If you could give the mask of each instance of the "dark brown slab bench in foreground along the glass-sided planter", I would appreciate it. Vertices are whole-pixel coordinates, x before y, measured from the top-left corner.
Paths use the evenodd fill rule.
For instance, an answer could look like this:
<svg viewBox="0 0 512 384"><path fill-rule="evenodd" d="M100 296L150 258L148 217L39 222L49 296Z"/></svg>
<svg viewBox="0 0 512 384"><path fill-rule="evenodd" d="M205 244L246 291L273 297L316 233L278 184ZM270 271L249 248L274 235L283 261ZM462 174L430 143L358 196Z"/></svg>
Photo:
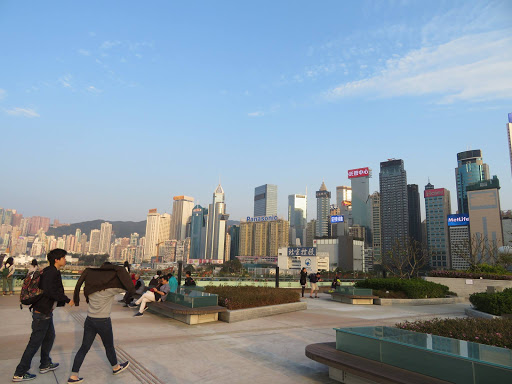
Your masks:
<svg viewBox="0 0 512 384"><path fill-rule="evenodd" d="M329 377L358 384L449 384L448 381L336 350L336 343L310 344L306 356L329 367Z"/></svg>

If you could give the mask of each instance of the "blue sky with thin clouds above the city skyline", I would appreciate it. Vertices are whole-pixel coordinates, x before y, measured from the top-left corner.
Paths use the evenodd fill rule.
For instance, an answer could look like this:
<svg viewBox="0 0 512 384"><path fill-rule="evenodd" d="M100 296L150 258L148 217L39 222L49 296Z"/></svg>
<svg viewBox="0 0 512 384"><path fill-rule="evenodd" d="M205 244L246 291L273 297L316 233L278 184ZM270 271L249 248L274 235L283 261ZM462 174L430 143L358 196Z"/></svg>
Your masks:
<svg viewBox="0 0 512 384"><path fill-rule="evenodd" d="M230 219L254 188L350 185L403 159L452 193L481 149L512 209L510 1L0 0L0 207L144 220L172 197ZM422 198L422 209L424 203ZM424 217L424 214L423 214Z"/></svg>

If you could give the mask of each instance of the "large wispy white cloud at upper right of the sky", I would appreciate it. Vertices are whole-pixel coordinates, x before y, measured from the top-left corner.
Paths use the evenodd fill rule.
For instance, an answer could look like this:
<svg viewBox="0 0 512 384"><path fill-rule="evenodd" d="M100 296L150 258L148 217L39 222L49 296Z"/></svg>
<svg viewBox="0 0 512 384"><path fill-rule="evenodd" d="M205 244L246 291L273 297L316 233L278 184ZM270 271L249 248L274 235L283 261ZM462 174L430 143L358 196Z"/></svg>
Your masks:
<svg viewBox="0 0 512 384"><path fill-rule="evenodd" d="M511 36L508 29L412 50L369 77L330 89L326 97L438 95L440 103L510 98Z"/></svg>

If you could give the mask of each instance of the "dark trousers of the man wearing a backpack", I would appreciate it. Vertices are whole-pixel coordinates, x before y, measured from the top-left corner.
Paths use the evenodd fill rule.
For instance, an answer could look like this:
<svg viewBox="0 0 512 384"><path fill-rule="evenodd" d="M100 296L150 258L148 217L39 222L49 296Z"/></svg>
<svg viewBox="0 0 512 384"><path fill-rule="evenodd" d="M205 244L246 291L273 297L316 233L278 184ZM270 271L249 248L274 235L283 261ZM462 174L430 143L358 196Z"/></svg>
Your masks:
<svg viewBox="0 0 512 384"><path fill-rule="evenodd" d="M55 341L55 328L53 327L53 315L43 315L32 312L32 334L28 341L27 348L23 352L21 361L16 367L15 376L23 376L30 369L32 358L41 347L41 363L39 368L47 367L52 363L50 351Z"/></svg>

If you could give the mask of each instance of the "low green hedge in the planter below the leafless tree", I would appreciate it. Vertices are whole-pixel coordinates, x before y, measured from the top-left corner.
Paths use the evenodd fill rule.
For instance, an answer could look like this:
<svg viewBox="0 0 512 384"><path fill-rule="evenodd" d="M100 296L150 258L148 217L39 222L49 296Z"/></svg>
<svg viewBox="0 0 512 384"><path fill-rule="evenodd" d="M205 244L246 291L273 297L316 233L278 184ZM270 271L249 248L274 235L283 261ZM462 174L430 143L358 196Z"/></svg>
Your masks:
<svg viewBox="0 0 512 384"><path fill-rule="evenodd" d="M356 282L355 286L381 291L404 292L409 299L446 297L449 290L446 285L432 283L423 279L366 279Z"/></svg>

